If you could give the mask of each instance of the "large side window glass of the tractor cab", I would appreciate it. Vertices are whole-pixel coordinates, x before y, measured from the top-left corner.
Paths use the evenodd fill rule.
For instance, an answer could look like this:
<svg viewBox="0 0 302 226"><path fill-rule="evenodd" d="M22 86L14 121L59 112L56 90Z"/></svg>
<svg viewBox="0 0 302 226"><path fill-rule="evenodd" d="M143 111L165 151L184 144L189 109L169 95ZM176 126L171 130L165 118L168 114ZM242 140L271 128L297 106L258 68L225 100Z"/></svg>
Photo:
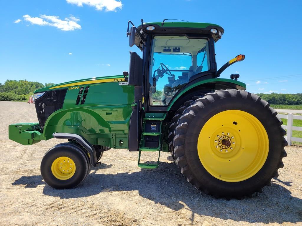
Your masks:
<svg viewBox="0 0 302 226"><path fill-rule="evenodd" d="M151 105L168 105L190 78L210 70L207 39L154 36L149 70Z"/></svg>

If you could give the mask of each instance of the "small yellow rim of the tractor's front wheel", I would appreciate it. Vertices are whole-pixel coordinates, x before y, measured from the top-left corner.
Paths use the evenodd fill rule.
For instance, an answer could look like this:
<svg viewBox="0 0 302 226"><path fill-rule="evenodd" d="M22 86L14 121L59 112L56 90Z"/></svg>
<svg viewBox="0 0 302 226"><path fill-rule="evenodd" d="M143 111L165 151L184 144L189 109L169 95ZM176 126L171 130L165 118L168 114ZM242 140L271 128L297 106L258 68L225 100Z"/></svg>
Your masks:
<svg viewBox="0 0 302 226"><path fill-rule="evenodd" d="M59 180L68 180L76 172L76 164L72 159L62 156L53 161L51 172Z"/></svg>

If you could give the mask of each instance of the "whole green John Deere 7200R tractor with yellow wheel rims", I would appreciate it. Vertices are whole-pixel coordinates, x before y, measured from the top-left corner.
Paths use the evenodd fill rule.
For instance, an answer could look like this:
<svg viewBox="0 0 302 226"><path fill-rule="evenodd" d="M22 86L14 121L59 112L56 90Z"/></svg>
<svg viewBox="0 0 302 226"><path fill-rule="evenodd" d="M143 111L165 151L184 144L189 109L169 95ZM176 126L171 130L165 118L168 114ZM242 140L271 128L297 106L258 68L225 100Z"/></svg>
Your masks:
<svg viewBox="0 0 302 226"><path fill-rule="evenodd" d="M282 121L268 102L246 92L232 74L219 78L238 55L217 70L216 24L128 22L129 72L76 80L34 93L38 123L9 125L9 139L32 145L51 138L66 143L49 149L41 162L45 182L73 188L100 165L103 152L138 152L138 166L159 166L171 152L196 189L215 197L241 199L262 192L278 177L287 145ZM154 152L157 162L140 162ZM156 159L157 159L156 155Z"/></svg>

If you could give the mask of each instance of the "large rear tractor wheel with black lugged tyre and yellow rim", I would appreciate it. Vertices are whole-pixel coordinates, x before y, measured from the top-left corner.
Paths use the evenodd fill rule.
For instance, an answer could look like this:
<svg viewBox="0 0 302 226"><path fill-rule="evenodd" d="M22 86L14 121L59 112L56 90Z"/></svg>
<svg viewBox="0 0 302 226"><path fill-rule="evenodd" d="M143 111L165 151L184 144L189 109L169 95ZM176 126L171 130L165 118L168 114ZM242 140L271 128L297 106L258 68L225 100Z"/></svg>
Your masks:
<svg viewBox="0 0 302 226"><path fill-rule="evenodd" d="M217 90L195 100L178 120L174 153L197 189L227 199L271 185L287 145L277 112L259 96Z"/></svg>

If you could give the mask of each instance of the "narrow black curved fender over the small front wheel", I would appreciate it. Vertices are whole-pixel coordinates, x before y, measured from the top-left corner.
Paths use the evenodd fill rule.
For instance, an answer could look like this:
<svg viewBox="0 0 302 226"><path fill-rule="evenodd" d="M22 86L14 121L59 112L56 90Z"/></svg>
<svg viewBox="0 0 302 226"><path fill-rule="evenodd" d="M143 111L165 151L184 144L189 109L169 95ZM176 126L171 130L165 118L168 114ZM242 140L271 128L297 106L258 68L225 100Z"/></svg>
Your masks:
<svg viewBox="0 0 302 226"><path fill-rule="evenodd" d="M74 134L74 133L53 133L54 138L58 139L71 139L78 142L89 152L89 161L90 165L98 166L100 163L97 163L95 148L87 141L84 137Z"/></svg>

